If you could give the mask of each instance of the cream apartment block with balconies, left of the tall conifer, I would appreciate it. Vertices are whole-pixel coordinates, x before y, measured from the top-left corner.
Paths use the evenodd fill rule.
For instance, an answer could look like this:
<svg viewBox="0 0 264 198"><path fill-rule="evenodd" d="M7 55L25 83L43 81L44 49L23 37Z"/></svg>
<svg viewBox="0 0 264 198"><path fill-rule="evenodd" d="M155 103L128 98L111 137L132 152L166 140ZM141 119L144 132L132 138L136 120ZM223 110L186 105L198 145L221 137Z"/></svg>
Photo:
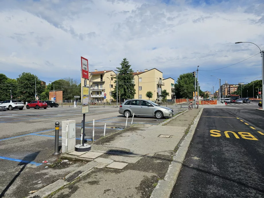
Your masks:
<svg viewBox="0 0 264 198"><path fill-rule="evenodd" d="M112 91L114 90L114 77L116 73L112 70L98 71L95 69L89 72L90 80L87 80L87 86L90 86L90 102L104 102L104 94L106 94L106 102L113 102ZM84 86L84 79L81 78L81 87ZM82 94L82 89L81 89Z"/></svg>

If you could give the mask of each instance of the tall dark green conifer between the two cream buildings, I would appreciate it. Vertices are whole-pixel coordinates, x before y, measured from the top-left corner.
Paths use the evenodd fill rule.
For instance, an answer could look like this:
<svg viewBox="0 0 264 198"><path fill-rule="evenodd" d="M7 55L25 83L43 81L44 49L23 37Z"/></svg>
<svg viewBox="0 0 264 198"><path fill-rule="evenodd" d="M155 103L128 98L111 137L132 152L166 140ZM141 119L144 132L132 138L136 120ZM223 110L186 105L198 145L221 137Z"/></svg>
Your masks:
<svg viewBox="0 0 264 198"><path fill-rule="evenodd" d="M133 82L134 76L133 76L133 69L130 69L131 65L129 65L129 62L126 58L123 59L123 61L120 63L121 67L117 67L118 74L115 78L114 84L117 84L117 86L114 88L112 97L114 99L117 99L117 88L118 88L118 95L120 93L120 98L123 99L133 99L136 90L135 90L135 84ZM117 99L118 100L118 99Z"/></svg>

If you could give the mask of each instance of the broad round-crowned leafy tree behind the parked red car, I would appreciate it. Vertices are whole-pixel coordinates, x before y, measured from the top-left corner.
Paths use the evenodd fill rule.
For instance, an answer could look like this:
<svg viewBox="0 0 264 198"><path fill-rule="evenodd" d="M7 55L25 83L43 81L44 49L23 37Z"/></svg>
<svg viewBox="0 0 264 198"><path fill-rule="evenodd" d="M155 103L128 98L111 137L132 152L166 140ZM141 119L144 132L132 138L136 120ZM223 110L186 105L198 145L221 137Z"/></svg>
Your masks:
<svg viewBox="0 0 264 198"><path fill-rule="evenodd" d="M23 72L17 78L17 93L20 100L24 102L31 102L35 100L35 79L36 79L36 92L41 94L45 86L41 84L41 80L31 73Z"/></svg>

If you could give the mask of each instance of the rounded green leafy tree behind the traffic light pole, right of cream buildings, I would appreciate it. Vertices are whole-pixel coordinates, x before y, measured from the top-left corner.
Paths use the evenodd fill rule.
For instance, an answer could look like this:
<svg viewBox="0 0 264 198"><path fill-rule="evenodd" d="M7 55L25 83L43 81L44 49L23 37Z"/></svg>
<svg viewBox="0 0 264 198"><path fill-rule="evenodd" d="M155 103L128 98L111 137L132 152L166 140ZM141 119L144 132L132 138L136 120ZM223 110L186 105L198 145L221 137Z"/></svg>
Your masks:
<svg viewBox="0 0 264 198"><path fill-rule="evenodd" d="M194 80L192 73L181 74L174 85L176 98L193 98ZM203 93L199 86L199 96Z"/></svg>

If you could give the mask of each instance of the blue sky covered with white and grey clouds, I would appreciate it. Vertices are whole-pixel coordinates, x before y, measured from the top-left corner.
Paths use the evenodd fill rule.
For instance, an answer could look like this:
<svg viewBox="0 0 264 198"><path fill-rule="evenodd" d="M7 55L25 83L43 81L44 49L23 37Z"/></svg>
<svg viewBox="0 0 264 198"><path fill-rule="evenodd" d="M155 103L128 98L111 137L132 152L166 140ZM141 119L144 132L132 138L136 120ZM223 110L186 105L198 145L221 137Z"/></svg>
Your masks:
<svg viewBox="0 0 264 198"><path fill-rule="evenodd" d="M134 71L175 81L199 65L203 91L219 88L210 75L251 82L261 77L259 48L235 42L264 50L263 9L263 0L0 0L0 73L80 81L83 56L89 71L127 58Z"/></svg>

